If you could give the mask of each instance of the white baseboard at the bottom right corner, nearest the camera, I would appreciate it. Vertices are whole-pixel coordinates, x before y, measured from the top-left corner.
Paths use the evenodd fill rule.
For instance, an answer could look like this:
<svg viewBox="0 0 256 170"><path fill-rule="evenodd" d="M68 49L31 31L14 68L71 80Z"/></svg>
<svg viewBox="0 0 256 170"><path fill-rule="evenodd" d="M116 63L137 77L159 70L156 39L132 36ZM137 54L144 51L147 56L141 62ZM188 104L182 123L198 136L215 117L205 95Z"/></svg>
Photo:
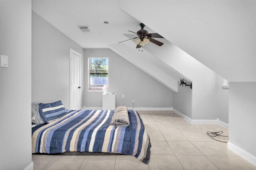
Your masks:
<svg viewBox="0 0 256 170"><path fill-rule="evenodd" d="M254 166L256 166L256 156L253 156L252 154L246 152L245 150L241 149L240 147L228 142L228 149L232 150L236 154L238 154L240 157L244 158Z"/></svg>

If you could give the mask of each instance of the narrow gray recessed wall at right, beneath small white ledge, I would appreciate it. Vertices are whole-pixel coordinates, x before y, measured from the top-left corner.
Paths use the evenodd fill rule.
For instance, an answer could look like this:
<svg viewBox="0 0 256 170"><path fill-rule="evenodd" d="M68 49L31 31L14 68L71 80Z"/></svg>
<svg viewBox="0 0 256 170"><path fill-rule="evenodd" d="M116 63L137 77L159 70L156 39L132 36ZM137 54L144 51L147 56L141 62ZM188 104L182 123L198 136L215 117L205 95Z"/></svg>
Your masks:
<svg viewBox="0 0 256 170"><path fill-rule="evenodd" d="M224 123L228 123L228 89L221 85L228 84L228 81L218 75L218 118Z"/></svg>

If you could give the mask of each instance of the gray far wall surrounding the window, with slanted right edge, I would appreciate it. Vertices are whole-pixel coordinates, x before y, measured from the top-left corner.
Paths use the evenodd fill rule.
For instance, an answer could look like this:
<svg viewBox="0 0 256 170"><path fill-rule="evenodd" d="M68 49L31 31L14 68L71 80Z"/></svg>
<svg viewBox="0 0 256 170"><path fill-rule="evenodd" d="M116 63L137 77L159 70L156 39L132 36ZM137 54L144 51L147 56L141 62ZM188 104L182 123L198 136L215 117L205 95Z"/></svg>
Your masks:
<svg viewBox="0 0 256 170"><path fill-rule="evenodd" d="M84 106L102 107L102 92L88 92L88 58L108 57L109 92L118 106L172 107L172 91L110 49L84 49ZM124 94L124 98L122 98Z"/></svg>

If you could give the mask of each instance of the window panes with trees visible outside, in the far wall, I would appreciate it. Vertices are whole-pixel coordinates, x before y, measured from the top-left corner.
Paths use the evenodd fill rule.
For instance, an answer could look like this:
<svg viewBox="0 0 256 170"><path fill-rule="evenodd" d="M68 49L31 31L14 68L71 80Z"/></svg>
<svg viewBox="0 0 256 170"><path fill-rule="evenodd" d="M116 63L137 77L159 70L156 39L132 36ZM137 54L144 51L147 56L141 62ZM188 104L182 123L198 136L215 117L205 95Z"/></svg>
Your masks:
<svg viewBox="0 0 256 170"><path fill-rule="evenodd" d="M89 58L89 90L108 89L108 58Z"/></svg>

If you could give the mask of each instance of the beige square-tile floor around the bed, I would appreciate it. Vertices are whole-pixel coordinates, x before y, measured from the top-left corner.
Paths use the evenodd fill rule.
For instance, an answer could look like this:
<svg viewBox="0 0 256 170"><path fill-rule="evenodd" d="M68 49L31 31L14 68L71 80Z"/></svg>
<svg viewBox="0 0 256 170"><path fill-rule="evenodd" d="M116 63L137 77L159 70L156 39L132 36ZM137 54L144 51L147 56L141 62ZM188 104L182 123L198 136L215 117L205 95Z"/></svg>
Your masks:
<svg viewBox="0 0 256 170"><path fill-rule="evenodd" d="M219 125L190 125L172 111L138 111L150 136L150 163L134 156L32 155L34 170L256 170L226 143L210 139L206 131ZM219 138L227 141L227 138Z"/></svg>

